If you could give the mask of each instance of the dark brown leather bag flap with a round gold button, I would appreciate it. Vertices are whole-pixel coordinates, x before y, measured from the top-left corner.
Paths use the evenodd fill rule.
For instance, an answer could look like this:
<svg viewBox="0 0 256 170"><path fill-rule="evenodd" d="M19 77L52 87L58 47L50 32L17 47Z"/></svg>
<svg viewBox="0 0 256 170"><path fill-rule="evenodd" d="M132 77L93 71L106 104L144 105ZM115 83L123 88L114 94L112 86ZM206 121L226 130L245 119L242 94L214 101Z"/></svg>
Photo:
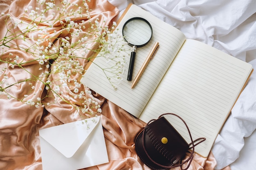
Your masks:
<svg viewBox="0 0 256 170"><path fill-rule="evenodd" d="M169 165L172 165L186 155L189 144L164 117L145 126L145 130L148 135L145 137L145 149L154 161L163 162L164 158L169 161ZM159 158L158 154L156 156L152 146L162 155L162 158Z"/></svg>

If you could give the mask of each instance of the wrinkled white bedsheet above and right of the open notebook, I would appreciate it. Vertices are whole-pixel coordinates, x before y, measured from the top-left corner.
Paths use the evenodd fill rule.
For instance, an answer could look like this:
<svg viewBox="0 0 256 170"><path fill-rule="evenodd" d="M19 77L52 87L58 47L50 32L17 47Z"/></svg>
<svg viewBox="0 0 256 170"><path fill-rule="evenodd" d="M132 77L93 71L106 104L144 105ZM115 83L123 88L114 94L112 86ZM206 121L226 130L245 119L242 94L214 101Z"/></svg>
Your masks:
<svg viewBox="0 0 256 170"><path fill-rule="evenodd" d="M129 3L150 11L195 39L250 62L256 70L256 0L109 0L121 13ZM120 15L121 15L120 13ZM256 71L212 148L216 170L255 170Z"/></svg>

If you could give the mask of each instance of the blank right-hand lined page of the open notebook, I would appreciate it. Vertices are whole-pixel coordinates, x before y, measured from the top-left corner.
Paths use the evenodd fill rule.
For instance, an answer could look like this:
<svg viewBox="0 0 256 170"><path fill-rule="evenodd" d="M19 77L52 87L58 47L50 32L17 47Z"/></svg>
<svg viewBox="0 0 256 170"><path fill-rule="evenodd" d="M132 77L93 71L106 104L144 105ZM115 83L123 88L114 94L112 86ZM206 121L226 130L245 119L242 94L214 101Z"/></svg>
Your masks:
<svg viewBox="0 0 256 170"><path fill-rule="evenodd" d="M206 137L195 151L207 157L251 71L252 66L246 62L186 40L139 118L148 122L156 114L180 115L193 139ZM166 118L190 143L183 122L174 116Z"/></svg>

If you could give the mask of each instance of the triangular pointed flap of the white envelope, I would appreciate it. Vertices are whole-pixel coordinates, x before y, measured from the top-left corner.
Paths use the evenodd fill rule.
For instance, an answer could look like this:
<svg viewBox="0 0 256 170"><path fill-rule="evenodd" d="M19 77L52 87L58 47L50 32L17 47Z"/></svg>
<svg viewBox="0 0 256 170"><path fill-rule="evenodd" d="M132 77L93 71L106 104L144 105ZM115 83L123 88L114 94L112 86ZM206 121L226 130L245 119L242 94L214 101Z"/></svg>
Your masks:
<svg viewBox="0 0 256 170"><path fill-rule="evenodd" d="M101 124L100 116L41 129L39 135L70 158L98 124Z"/></svg>

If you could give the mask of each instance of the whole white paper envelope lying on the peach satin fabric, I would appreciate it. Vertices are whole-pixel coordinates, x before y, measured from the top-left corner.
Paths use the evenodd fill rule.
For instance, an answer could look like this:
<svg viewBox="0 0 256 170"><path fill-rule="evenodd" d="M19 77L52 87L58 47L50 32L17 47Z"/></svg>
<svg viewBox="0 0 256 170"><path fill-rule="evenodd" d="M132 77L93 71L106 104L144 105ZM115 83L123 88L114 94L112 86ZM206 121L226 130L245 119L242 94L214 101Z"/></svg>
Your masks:
<svg viewBox="0 0 256 170"><path fill-rule="evenodd" d="M108 163L100 116L41 129L39 137L43 170L78 170Z"/></svg>

